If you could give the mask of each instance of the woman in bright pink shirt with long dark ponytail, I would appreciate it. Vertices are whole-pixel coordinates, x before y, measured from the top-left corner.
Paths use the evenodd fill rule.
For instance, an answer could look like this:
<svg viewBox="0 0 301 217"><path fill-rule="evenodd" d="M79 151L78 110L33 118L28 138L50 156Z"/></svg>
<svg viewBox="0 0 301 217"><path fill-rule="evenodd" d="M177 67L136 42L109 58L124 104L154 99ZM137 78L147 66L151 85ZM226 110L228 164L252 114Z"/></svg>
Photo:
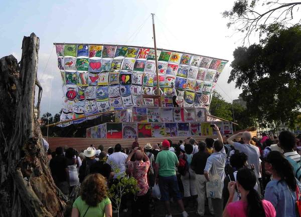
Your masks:
<svg viewBox="0 0 301 217"><path fill-rule="evenodd" d="M248 168L238 170L236 180L237 182L231 181L228 184L230 195L223 212L223 217L276 216L274 206L269 201L261 199L258 192L254 190L256 176L253 170ZM241 199L232 202L234 193L240 193Z"/></svg>

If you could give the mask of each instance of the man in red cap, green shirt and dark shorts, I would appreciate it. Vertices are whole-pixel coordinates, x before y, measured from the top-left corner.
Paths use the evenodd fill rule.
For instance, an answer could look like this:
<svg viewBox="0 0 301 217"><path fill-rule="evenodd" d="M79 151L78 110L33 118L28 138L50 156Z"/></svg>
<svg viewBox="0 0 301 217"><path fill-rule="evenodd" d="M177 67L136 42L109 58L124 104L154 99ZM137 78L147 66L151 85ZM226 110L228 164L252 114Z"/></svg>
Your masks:
<svg viewBox="0 0 301 217"><path fill-rule="evenodd" d="M160 151L156 158L156 183L159 182L161 191L161 200L165 202L167 210L166 217L171 217L170 195L169 190L173 193L173 198L177 200L183 217L187 217L188 213L184 209L182 195L180 193L178 180L176 176L176 167L179 166L177 155L169 150L170 142L163 140L162 151ZM158 177L159 176L159 177Z"/></svg>

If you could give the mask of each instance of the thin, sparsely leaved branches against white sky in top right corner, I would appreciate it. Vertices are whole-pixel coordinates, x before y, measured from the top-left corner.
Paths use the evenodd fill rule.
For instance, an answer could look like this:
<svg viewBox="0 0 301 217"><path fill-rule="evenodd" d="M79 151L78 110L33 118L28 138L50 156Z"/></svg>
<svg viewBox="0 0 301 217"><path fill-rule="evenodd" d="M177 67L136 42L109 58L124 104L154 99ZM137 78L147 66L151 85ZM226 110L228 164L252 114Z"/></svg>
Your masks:
<svg viewBox="0 0 301 217"><path fill-rule="evenodd" d="M280 0L237 0L230 11L223 13L229 19L228 28L244 33L243 43L253 32L259 31L261 37L266 27L272 24L291 26L290 21L299 9L301 2Z"/></svg>

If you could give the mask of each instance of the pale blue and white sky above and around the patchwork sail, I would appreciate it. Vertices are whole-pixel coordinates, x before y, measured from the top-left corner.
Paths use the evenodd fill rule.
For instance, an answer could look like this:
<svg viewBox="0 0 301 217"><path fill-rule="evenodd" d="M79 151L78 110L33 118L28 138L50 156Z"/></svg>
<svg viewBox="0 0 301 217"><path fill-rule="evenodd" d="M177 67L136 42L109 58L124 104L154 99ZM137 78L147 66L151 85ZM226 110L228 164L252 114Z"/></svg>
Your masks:
<svg viewBox="0 0 301 217"><path fill-rule="evenodd" d="M151 13L155 14L157 48L229 60L216 90L231 102L242 92L227 83L233 51L241 36L227 29L221 13L232 0L98 0L0 1L0 57L21 60L24 36L40 38L38 79L43 87L41 113L62 107L62 81L53 43L123 44L154 47Z"/></svg>

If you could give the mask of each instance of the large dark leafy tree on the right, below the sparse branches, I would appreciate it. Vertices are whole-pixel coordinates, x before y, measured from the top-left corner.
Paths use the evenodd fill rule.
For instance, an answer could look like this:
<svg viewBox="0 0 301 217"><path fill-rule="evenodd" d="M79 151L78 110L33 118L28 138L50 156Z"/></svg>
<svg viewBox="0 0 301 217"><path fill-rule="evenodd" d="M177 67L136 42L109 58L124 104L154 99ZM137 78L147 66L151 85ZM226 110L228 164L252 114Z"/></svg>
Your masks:
<svg viewBox="0 0 301 217"><path fill-rule="evenodd" d="M290 123L301 108L301 25L271 25L261 44L238 47L228 83L242 88L250 115Z"/></svg>

